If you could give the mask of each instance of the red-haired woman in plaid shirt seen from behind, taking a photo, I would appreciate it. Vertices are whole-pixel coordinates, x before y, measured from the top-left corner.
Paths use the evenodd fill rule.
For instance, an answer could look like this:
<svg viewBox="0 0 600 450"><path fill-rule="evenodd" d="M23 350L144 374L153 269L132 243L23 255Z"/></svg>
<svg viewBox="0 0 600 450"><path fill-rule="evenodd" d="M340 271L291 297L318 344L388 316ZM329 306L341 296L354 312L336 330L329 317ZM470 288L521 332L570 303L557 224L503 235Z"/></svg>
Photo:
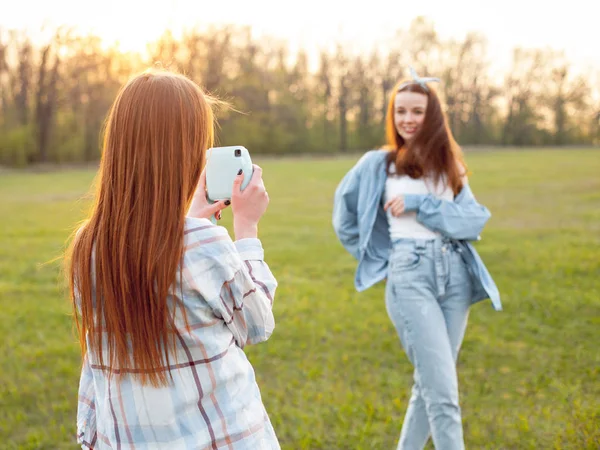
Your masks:
<svg viewBox="0 0 600 450"><path fill-rule="evenodd" d="M269 198L255 166L231 201L207 202L212 103L188 78L148 71L110 109L67 258L82 448L279 448L242 350L274 328L277 282L257 238ZM208 220L229 204L235 242Z"/></svg>

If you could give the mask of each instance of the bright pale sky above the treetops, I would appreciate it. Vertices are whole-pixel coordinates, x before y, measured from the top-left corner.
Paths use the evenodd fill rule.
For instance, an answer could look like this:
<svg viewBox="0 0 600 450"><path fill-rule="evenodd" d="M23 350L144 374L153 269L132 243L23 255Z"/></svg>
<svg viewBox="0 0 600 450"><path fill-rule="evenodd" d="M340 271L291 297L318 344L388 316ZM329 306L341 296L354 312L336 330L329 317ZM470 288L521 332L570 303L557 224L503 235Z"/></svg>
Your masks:
<svg viewBox="0 0 600 450"><path fill-rule="evenodd" d="M471 31L488 38L492 67L507 68L512 49L563 50L576 69L600 69L597 0L0 0L0 27L40 34L66 24L91 31L123 50L143 51L170 28L216 24L251 25L255 36L287 41L292 51L316 54L337 42L353 51L385 47L412 20L431 20L444 39ZM550 6L554 3L554 6ZM10 6L8 6L10 5ZM8 7L7 7L8 6ZM43 33L42 33L43 35Z"/></svg>

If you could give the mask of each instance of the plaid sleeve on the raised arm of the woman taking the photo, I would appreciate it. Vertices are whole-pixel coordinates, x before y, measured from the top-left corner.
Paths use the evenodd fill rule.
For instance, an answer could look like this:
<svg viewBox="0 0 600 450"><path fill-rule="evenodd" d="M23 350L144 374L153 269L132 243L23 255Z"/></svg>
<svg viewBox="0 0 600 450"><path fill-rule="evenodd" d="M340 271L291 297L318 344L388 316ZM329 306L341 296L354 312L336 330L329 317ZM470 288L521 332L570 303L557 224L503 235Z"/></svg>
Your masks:
<svg viewBox="0 0 600 450"><path fill-rule="evenodd" d="M260 241L247 238L234 244L225 228L203 228L188 237L185 281L223 320L239 347L266 341L275 328L277 281L264 262Z"/></svg>

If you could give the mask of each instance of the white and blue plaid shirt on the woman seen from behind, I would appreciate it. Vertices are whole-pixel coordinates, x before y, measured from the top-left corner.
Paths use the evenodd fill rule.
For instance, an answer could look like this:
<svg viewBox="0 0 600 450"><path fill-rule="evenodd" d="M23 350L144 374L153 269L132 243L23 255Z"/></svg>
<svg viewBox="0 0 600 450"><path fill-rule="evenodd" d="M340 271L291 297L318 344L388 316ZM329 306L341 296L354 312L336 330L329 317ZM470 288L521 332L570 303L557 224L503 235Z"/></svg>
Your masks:
<svg viewBox="0 0 600 450"><path fill-rule="evenodd" d="M233 243L225 228L186 219L176 292L189 331L169 299L180 332L168 366L173 379L142 385L132 369L100 366L88 353L77 411L82 449L280 448L242 350L266 341L275 326L277 281L263 259L258 239Z"/></svg>

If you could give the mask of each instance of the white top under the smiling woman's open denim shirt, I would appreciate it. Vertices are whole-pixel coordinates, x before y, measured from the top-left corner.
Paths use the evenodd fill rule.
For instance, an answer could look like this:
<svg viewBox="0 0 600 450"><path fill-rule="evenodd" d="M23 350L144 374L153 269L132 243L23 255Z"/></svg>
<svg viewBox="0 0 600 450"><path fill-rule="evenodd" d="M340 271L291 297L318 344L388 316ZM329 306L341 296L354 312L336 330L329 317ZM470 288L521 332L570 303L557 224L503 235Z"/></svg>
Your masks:
<svg viewBox="0 0 600 450"><path fill-rule="evenodd" d="M454 201L454 192L445 183L440 182L436 186L429 177L415 179L408 175L394 175L395 173L396 166L392 163L390 174L385 182L384 202L403 194L433 194L443 200ZM416 211L405 212L400 217L394 217L391 209L388 209L386 214L392 241L399 238L435 239L440 235L417 222Z"/></svg>

